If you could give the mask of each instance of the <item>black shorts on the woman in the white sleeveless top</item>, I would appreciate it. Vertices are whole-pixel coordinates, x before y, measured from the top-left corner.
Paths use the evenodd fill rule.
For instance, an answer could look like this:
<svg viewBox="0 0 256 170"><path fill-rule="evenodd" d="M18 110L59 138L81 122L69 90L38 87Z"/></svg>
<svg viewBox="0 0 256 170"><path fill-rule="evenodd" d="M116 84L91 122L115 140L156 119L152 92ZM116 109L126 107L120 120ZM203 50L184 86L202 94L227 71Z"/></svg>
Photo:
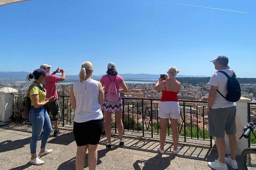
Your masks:
<svg viewBox="0 0 256 170"><path fill-rule="evenodd" d="M96 145L99 143L103 127L103 119L90 120L87 122L74 122L73 131L77 146L87 144Z"/></svg>

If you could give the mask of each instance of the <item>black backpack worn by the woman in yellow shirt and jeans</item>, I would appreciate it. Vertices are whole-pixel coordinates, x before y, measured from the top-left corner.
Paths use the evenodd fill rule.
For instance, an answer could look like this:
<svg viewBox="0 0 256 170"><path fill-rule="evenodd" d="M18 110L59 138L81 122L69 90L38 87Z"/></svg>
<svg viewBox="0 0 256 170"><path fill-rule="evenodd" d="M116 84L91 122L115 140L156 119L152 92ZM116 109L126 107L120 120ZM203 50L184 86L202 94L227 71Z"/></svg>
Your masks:
<svg viewBox="0 0 256 170"><path fill-rule="evenodd" d="M31 100L29 97L29 92L33 87L38 87L40 90L43 90L39 85L31 85L28 88L28 94L23 98L21 104L18 106L19 111L21 112L21 116L23 119L28 119L29 111L31 109Z"/></svg>

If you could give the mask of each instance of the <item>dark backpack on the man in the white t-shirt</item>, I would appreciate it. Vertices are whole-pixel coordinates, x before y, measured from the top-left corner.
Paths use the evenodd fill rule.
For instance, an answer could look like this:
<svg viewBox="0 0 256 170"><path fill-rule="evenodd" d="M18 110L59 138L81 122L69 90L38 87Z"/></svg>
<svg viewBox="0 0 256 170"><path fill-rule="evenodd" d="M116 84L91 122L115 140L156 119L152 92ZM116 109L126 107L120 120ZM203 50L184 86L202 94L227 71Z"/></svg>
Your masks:
<svg viewBox="0 0 256 170"><path fill-rule="evenodd" d="M241 88L240 88L240 84L237 81L237 79L235 78L235 72L233 70L231 70L233 75L229 77L229 75L224 72L224 71L217 71L220 73L223 73L227 78L228 78L228 82L227 82L227 90L228 90L228 94L225 96L223 96L219 90L218 93L224 97L227 101L231 101L231 102L236 102L241 98Z"/></svg>

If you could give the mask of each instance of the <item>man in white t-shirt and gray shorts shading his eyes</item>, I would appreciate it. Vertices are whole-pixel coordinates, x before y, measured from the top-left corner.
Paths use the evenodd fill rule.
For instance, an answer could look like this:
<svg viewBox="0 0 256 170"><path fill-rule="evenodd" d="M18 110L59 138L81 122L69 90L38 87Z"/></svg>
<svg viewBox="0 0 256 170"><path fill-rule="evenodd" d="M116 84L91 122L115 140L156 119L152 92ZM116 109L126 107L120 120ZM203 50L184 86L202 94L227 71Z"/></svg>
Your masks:
<svg viewBox="0 0 256 170"><path fill-rule="evenodd" d="M236 75L234 70L231 70L228 66L228 57L218 56L216 59L212 60L215 69L218 71L224 71L229 76ZM235 161L235 155L237 150L237 140L236 140L236 104L235 102L227 101L222 97L219 92L226 96L227 91L227 81L228 78L221 72L215 72L209 81L211 85L211 91L208 97L208 122L209 122L209 135L215 136L216 145L218 150L219 159L215 162L208 162L208 165L214 169L228 170L228 165L234 169L238 169L237 162ZM218 91L219 92L218 92ZM228 135L229 146L231 154L228 158L225 158L225 132Z"/></svg>

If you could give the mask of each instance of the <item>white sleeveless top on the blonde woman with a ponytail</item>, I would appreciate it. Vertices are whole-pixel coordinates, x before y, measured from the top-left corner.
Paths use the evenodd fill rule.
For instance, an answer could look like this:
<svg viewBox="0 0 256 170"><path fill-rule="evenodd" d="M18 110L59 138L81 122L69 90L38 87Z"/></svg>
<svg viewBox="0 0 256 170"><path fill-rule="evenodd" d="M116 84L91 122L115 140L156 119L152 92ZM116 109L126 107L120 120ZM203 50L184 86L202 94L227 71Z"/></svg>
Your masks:
<svg viewBox="0 0 256 170"><path fill-rule="evenodd" d="M93 79L73 83L76 98L74 121L77 123L103 118L99 103L99 82Z"/></svg>

